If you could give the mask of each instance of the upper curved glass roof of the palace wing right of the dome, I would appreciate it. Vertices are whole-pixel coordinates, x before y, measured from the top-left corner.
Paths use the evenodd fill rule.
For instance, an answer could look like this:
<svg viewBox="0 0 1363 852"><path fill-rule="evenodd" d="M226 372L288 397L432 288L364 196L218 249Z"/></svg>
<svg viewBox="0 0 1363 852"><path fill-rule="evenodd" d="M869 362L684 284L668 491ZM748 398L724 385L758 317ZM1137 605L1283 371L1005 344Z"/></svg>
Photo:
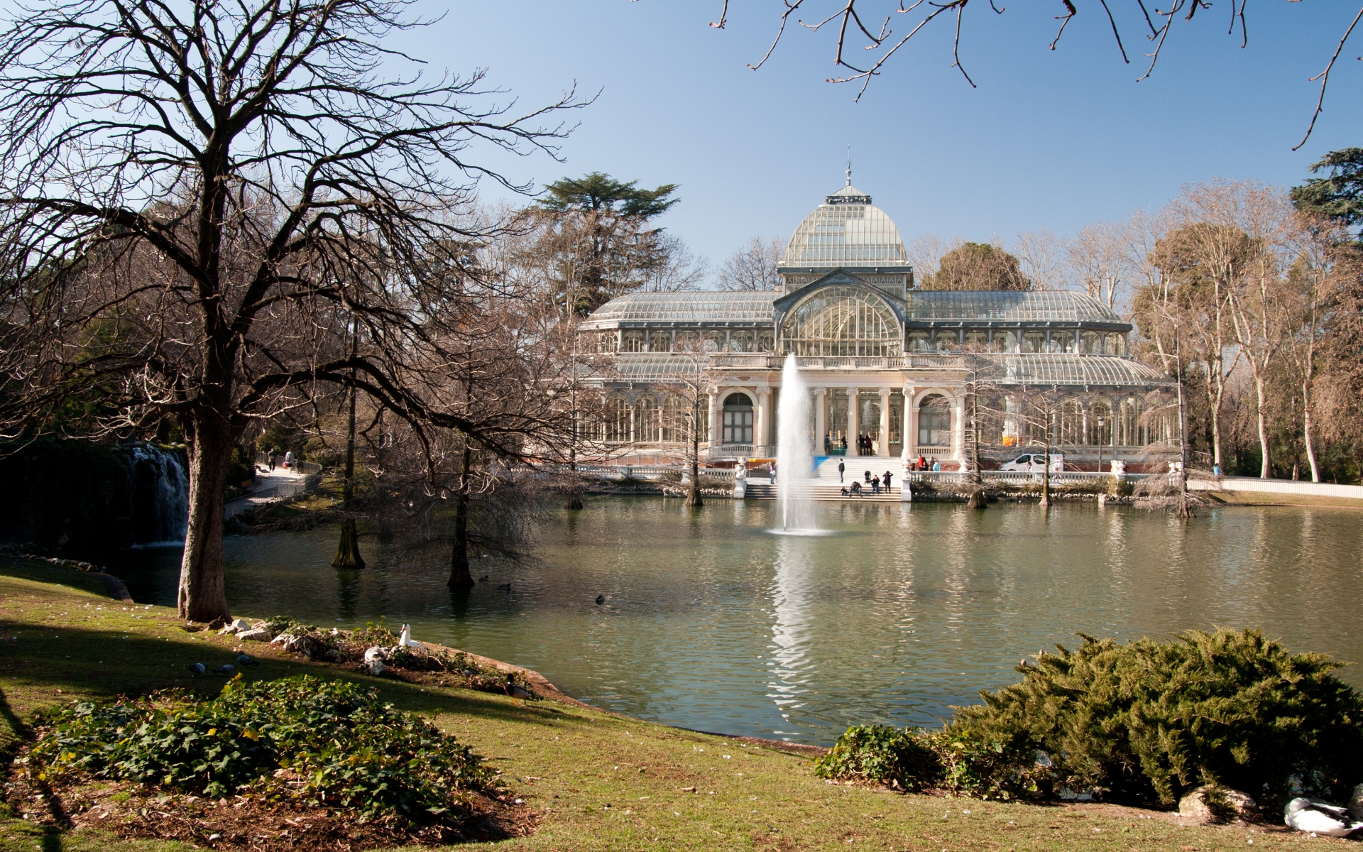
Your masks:
<svg viewBox="0 0 1363 852"><path fill-rule="evenodd" d="M910 290L905 315L915 320L1123 322L1088 293L1074 290Z"/></svg>

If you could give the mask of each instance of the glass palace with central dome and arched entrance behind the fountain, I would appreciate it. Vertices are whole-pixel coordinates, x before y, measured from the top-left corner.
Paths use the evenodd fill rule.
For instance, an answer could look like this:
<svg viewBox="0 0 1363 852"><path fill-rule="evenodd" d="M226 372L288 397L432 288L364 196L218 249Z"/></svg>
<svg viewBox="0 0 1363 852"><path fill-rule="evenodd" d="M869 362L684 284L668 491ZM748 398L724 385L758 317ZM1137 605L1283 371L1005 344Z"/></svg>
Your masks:
<svg viewBox="0 0 1363 852"><path fill-rule="evenodd" d="M631 293L592 314L582 330L612 394L590 438L677 453L688 405L669 380L709 374L709 458L773 455L792 353L816 454L846 442L953 469L973 438L970 389L998 413L979 429L995 458L1047 425L1069 458L1135 461L1176 436L1172 382L1129 357L1130 323L1077 292L919 290L894 222L851 184L800 222L780 273L780 292Z"/></svg>

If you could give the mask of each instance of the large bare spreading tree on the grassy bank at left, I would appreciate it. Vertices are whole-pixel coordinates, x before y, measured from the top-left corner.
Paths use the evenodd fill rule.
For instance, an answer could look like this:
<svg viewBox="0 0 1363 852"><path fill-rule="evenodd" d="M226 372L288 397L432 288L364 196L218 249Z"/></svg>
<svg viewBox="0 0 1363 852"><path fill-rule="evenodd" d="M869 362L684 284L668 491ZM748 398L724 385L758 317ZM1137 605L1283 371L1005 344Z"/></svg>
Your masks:
<svg viewBox="0 0 1363 852"><path fill-rule="evenodd" d="M112 0L22 8L0 35L3 412L37 412L119 376L110 428L177 419L189 453L179 611L228 618L222 489L248 424L353 386L409 424L517 454L536 406L444 412L429 380L459 307L468 245L496 224L461 215L476 143L553 153L541 127L571 94L512 115L469 78L402 74L384 46L417 26L403 0L183 7ZM147 275L149 271L157 274ZM352 354L337 327L354 318ZM97 352L98 323L139 335Z"/></svg>

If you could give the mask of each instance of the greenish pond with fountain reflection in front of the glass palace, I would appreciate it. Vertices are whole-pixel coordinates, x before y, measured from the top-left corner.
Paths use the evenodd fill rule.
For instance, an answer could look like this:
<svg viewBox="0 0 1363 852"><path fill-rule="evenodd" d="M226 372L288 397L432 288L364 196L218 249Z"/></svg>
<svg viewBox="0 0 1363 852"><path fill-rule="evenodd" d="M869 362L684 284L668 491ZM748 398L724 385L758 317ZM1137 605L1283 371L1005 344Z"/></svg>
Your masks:
<svg viewBox="0 0 1363 852"><path fill-rule="evenodd" d="M936 724L1079 631L1261 627L1363 661L1353 510L1227 507L1184 526L1093 504L821 503L830 534L789 537L769 532L774 508L596 499L544 525L534 563L480 560L488 581L465 597L444 586L443 551L364 538L371 567L337 571L334 529L229 537L228 600L320 626L409 622L600 708L825 744L852 724ZM177 549L109 570L138 601L174 605ZM1356 667L1344 678L1363 683Z"/></svg>

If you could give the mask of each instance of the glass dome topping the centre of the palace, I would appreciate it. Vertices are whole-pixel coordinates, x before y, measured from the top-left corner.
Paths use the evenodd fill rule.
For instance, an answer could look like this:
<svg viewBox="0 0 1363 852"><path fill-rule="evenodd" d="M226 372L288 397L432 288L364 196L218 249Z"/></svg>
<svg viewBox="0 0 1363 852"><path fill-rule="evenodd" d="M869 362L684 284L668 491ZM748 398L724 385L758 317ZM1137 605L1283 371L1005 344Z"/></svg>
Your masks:
<svg viewBox="0 0 1363 852"><path fill-rule="evenodd" d="M846 185L795 229L782 266L864 267L908 263L900 229L871 196Z"/></svg>

